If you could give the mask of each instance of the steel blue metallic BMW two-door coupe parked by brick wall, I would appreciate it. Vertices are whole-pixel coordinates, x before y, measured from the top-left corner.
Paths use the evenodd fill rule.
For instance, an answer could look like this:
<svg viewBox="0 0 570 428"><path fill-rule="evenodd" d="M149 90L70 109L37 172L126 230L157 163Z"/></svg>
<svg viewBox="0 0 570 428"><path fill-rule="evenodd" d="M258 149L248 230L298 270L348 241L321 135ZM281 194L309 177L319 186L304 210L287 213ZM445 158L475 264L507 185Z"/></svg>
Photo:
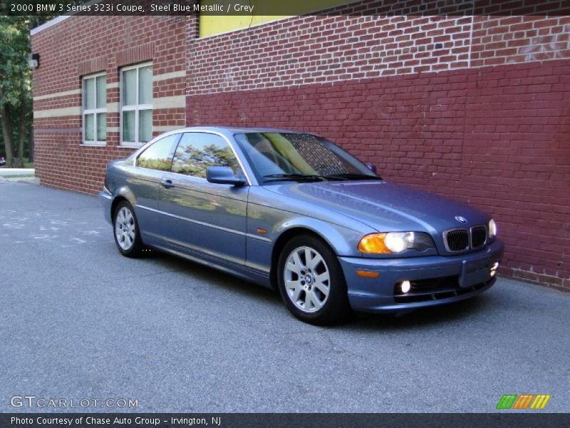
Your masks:
<svg viewBox="0 0 570 428"><path fill-rule="evenodd" d="M274 288L315 325L479 295L504 253L489 214L302 131L163 133L109 163L99 198L122 255L153 248Z"/></svg>

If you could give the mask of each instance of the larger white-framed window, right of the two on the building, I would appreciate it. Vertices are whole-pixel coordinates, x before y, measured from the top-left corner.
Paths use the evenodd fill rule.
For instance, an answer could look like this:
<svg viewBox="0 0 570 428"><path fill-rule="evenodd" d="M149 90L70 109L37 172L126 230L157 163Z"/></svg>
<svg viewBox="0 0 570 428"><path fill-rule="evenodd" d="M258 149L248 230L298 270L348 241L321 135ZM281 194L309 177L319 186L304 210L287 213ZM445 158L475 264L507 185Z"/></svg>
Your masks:
<svg viewBox="0 0 570 428"><path fill-rule="evenodd" d="M152 138L152 63L121 68L120 123L123 146Z"/></svg>

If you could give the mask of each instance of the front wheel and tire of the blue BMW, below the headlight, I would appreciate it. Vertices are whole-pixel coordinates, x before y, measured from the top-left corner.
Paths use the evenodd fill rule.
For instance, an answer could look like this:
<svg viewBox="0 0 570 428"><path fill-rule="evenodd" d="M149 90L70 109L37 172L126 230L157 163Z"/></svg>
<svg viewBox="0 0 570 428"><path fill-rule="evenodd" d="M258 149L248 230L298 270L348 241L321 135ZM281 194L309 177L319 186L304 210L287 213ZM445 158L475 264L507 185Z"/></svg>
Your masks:
<svg viewBox="0 0 570 428"><path fill-rule="evenodd" d="M281 298L299 320L328 325L351 315L341 265L320 239L311 235L291 239L281 250L276 273Z"/></svg>

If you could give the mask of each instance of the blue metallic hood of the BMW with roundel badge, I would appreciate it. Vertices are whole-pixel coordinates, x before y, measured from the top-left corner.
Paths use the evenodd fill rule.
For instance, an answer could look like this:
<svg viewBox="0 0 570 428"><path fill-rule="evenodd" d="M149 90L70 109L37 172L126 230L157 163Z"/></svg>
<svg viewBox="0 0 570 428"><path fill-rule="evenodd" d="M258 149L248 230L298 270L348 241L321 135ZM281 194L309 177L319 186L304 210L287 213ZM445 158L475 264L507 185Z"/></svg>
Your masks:
<svg viewBox="0 0 570 428"><path fill-rule="evenodd" d="M465 203L456 202L383 180L328 181L321 183L283 183L265 187L301 205L333 210L358 220L378 231L426 231L435 234L451 228L486 224L489 215ZM304 213L309 214L309 213ZM467 223L461 223L456 217Z"/></svg>

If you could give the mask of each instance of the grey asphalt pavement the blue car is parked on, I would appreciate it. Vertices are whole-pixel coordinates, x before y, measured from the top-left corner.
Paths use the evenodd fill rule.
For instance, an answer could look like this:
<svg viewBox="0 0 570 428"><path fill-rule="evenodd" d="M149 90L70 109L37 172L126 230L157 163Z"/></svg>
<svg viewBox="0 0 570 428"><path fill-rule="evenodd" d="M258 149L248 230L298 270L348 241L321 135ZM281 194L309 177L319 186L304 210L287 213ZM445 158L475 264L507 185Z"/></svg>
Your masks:
<svg viewBox="0 0 570 428"><path fill-rule="evenodd" d="M569 293L499 278L455 305L314 327L271 290L122 257L93 196L0 181L0 412L496 412L524 393L570 410ZM11 405L26 396L138 407Z"/></svg>

